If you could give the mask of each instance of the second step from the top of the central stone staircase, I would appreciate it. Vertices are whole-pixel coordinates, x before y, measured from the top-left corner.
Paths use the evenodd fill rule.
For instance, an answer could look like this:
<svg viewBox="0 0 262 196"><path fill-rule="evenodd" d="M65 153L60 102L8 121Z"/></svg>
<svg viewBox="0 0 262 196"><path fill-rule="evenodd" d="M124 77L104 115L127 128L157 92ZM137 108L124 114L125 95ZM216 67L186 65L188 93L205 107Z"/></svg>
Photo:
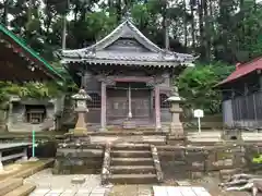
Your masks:
<svg viewBox="0 0 262 196"><path fill-rule="evenodd" d="M114 158L152 158L150 150L112 150Z"/></svg>

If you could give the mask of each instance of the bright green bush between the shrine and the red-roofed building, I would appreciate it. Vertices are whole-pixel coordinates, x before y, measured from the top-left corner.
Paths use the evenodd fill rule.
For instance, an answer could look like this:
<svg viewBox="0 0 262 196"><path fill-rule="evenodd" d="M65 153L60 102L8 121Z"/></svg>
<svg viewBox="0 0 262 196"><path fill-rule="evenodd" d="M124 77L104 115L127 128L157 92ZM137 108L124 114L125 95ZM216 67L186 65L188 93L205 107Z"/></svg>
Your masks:
<svg viewBox="0 0 262 196"><path fill-rule="evenodd" d="M178 79L180 95L186 98L187 107L200 108L212 114L221 112L222 97L214 86L233 69L234 66L221 62L187 69Z"/></svg>

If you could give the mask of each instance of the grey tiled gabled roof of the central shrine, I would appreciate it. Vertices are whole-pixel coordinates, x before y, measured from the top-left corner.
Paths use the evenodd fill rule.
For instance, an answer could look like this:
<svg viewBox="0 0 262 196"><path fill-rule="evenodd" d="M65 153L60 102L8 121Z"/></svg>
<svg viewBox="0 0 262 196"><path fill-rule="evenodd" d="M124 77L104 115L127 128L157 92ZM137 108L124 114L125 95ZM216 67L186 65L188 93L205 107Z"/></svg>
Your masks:
<svg viewBox="0 0 262 196"><path fill-rule="evenodd" d="M140 51L139 48L135 50L132 47L129 48L129 46L126 46L126 49L122 49L121 47L118 49L107 48L121 38L134 39L145 50ZM178 62L187 64L195 60L191 54L177 53L160 49L157 45L146 38L129 20L126 20L115 30L95 45L82 49L63 50L60 53L60 57L63 63L81 61L105 63L107 61L110 64L121 61L121 64L124 64L124 61L127 61L127 63L130 63L128 61L136 61L134 64L138 64L140 61L146 61L153 63L159 62L160 64L165 64L165 62L171 64L174 62L174 65L177 65Z"/></svg>

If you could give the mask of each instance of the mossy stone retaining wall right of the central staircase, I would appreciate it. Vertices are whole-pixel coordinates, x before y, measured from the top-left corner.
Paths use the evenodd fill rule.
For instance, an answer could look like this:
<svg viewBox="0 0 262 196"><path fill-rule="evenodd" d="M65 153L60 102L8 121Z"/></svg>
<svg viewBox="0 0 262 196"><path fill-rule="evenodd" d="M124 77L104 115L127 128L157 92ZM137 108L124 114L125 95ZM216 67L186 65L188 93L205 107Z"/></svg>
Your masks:
<svg viewBox="0 0 262 196"><path fill-rule="evenodd" d="M262 152L262 144L211 147L158 146L165 177L201 177L211 172L252 170L252 158Z"/></svg>

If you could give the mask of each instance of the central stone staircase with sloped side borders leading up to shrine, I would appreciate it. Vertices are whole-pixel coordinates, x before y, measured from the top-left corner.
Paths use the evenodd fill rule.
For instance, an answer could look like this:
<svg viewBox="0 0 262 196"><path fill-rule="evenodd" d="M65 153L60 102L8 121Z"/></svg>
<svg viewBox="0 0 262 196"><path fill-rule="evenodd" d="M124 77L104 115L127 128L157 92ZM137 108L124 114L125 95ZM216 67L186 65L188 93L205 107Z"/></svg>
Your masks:
<svg viewBox="0 0 262 196"><path fill-rule="evenodd" d="M147 144L106 146L102 172L103 184L154 184L163 181L157 150Z"/></svg>

